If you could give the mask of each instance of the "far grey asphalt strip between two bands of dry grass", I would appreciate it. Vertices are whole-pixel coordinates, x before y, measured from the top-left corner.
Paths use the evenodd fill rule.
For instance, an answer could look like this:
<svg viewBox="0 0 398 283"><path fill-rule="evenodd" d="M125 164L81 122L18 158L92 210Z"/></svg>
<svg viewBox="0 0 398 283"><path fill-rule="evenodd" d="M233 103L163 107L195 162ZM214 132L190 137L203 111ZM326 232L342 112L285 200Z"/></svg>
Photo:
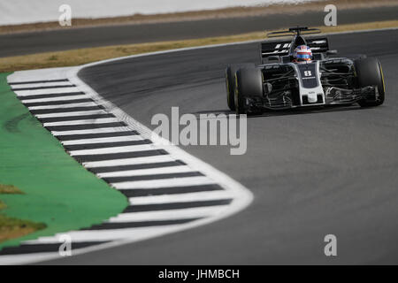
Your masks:
<svg viewBox="0 0 398 283"><path fill-rule="evenodd" d="M262 17L206 19L160 24L82 27L44 32L0 35L0 57L106 45L184 40L243 34L296 25L323 26L324 11L274 14ZM398 6L338 10L337 24L396 19Z"/></svg>

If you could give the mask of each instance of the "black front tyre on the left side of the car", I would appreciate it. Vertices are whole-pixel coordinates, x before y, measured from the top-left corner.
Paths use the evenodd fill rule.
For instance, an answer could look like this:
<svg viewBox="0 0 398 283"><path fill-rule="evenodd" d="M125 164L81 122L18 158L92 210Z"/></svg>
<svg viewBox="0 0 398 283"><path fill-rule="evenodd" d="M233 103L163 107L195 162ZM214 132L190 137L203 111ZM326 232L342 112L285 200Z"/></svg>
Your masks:
<svg viewBox="0 0 398 283"><path fill-rule="evenodd" d="M235 111L248 114L246 96L263 96L263 73L257 68L241 68L235 74Z"/></svg>

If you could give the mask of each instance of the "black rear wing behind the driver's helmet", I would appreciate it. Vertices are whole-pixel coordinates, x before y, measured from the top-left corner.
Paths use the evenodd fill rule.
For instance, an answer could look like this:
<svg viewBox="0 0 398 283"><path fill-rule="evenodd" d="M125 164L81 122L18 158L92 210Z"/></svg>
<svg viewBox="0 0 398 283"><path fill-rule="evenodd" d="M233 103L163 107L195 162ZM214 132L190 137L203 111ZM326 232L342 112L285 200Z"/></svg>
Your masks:
<svg viewBox="0 0 398 283"><path fill-rule="evenodd" d="M327 37L310 37L305 38L307 45L313 53L324 53L329 50L329 42ZM262 62L270 56L287 56L290 55L292 41L278 41L278 42L261 42L260 56Z"/></svg>

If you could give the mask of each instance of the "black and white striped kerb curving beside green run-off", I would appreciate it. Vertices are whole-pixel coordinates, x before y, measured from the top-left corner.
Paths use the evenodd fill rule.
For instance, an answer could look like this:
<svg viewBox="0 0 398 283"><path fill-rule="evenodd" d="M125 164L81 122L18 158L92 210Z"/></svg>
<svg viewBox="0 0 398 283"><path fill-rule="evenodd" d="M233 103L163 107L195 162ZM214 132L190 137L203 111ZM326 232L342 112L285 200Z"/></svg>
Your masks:
<svg viewBox="0 0 398 283"><path fill-rule="evenodd" d="M184 156L176 157L143 137L65 77L48 79L43 73L33 77L37 80L32 76L23 80L24 75L9 80L21 103L69 155L126 195L130 203L101 225L68 232L73 251L195 226L222 215L234 202L231 191L217 180L189 165ZM53 73L48 77L53 78ZM28 260L29 255L56 254L59 246L57 235L25 241L1 250L0 264L19 263L19 257Z"/></svg>

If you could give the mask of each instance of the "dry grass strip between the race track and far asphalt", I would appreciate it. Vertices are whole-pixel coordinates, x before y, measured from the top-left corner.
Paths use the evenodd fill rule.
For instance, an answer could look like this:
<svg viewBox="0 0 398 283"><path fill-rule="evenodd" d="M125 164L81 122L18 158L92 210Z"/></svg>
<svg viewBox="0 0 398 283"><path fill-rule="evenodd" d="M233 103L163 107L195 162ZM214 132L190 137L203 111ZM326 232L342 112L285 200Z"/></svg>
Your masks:
<svg viewBox="0 0 398 283"><path fill-rule="evenodd" d="M341 25L337 27L318 27L324 33L343 32L348 30L365 30L371 28L398 27L398 20ZM134 54L161 50L173 50L210 44L244 42L264 39L264 32L239 34L231 36L210 37L174 42L154 42L129 45L117 45L80 50L67 50L38 53L26 56L0 58L0 72L41 69L49 67L82 65L114 57L124 57Z"/></svg>

